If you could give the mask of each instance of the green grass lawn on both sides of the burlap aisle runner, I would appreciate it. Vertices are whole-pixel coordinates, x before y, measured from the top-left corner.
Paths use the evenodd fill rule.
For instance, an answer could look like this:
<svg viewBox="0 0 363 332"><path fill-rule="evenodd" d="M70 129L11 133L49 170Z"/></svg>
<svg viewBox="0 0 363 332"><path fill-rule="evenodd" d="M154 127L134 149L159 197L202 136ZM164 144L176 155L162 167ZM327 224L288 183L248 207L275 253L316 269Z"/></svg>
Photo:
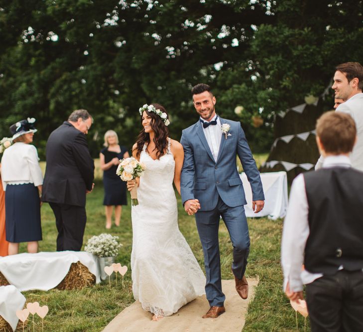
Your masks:
<svg viewBox="0 0 363 332"><path fill-rule="evenodd" d="M256 158L257 160L258 158ZM258 161L257 161L258 162ZM87 226L84 243L95 234L109 232L120 237L123 247L117 262L127 265L130 269L132 227L129 205L123 207L121 226L105 229L105 212L102 206L103 186L97 180L94 191L87 196ZM203 267L203 252L199 241L195 220L186 215L180 198L178 198L179 227L190 244L198 262ZM259 276L260 282L256 296L250 303L246 324L243 331L296 331L295 312L282 292L282 274L280 269L280 240L282 220L271 221L267 218L248 219L251 250L246 274L249 277ZM42 207L43 241L39 244L40 251L55 251L57 235L53 213L48 204ZM227 228L221 222L220 250L222 277L232 279L232 244ZM25 244L20 245L25 251ZM28 291L24 296L29 302L47 305L49 313L44 319L44 331L87 331L98 332L121 310L133 302L130 270L125 275L125 288L122 290L114 281L110 290L108 281L80 291L50 290ZM241 299L242 301L242 299ZM206 309L208 304L206 303ZM228 310L228 308L226 308ZM203 313L201 313L203 314ZM35 315L38 325L35 331L41 331L41 320ZM304 331L304 319L298 317L299 331ZM29 324L28 331L32 331ZM307 331L309 329L307 328Z"/></svg>

